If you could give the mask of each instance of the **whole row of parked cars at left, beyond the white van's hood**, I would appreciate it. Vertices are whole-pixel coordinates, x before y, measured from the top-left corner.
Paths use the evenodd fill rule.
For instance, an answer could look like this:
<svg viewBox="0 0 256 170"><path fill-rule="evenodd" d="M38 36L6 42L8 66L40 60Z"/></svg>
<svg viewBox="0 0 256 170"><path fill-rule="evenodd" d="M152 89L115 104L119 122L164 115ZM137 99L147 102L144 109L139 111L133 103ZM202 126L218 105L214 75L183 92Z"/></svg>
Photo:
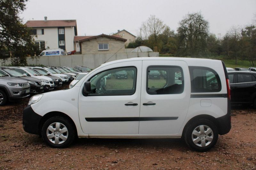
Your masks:
<svg viewBox="0 0 256 170"><path fill-rule="evenodd" d="M0 67L0 106L30 95L49 92L73 81L79 71L69 67ZM87 72L88 73L88 72Z"/></svg>

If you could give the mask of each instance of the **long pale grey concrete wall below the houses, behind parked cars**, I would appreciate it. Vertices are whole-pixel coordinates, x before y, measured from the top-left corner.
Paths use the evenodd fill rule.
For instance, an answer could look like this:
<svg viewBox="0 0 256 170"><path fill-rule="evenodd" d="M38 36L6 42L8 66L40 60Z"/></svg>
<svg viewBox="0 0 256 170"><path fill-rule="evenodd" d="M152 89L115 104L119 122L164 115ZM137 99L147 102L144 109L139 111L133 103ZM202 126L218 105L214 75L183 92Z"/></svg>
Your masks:
<svg viewBox="0 0 256 170"><path fill-rule="evenodd" d="M68 66L74 68L76 65L84 65L90 69L95 69L104 62L134 58L134 57L159 57L158 52L143 53L116 53L116 54L75 54L75 55L55 55L41 56L32 59L27 58L28 65L44 65L44 66ZM10 65L11 59L0 59L0 66Z"/></svg>

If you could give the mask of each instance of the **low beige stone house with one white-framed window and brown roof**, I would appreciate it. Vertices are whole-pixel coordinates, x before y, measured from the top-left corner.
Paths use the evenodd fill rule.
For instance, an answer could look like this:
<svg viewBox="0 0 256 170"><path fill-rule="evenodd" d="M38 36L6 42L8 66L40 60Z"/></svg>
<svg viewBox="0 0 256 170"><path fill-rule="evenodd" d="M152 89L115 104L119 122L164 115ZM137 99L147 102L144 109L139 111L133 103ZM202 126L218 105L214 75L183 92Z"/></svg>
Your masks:
<svg viewBox="0 0 256 170"><path fill-rule="evenodd" d="M118 35L75 36L74 48L80 54L125 53L126 41Z"/></svg>

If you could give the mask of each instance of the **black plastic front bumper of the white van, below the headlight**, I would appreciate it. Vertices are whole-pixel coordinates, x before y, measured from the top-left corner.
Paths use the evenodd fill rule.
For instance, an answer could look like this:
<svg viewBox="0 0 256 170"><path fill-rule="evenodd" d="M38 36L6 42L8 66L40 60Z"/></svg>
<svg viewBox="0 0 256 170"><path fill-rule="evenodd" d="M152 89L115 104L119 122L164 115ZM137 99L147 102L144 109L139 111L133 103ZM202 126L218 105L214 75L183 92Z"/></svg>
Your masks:
<svg viewBox="0 0 256 170"><path fill-rule="evenodd" d="M42 116L38 115L32 109L31 105L28 105L23 110L22 124L25 132L40 135L39 123Z"/></svg>

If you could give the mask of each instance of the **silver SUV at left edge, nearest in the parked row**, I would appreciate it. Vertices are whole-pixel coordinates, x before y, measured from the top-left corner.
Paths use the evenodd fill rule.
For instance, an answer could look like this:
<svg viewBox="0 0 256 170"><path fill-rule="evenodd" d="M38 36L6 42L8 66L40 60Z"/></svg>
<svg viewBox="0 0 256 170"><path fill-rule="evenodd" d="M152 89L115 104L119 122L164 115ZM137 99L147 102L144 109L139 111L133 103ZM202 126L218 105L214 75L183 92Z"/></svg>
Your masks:
<svg viewBox="0 0 256 170"><path fill-rule="evenodd" d="M28 97L30 85L27 80L14 77L6 77L0 73L0 106L7 101L14 101Z"/></svg>

